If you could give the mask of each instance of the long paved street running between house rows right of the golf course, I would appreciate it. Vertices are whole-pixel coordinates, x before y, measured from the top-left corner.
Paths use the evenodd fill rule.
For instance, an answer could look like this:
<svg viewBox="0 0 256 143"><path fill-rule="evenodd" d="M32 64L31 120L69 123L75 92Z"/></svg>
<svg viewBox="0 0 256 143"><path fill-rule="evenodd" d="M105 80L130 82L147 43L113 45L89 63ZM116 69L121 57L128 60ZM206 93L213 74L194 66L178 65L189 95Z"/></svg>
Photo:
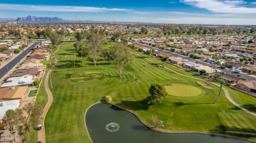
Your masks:
<svg viewBox="0 0 256 143"><path fill-rule="evenodd" d="M133 42L133 41L129 41L129 42ZM147 45L144 45L144 44L140 44L140 43L138 43L138 42L133 42L133 43L138 44L138 45L140 45L140 46L144 46L144 47L146 47L146 48L153 48L153 47L151 47L151 46L147 46ZM182 57L183 59L194 60L194 59L192 59L192 58L190 58L190 57L181 56L181 55L179 55L179 54L174 54L174 53L172 53L172 52L165 52L165 51L163 51L163 50L161 50L161 49L159 49L159 48L157 48L157 50L158 50L158 52L170 54L170 55L175 56L175 57ZM200 61L200 60L196 60L196 61L197 61L197 63L200 63L200 64L202 64L202 65L204 65L204 66L211 66L210 63L206 63L206 62ZM231 72L232 72L230 69L220 69L220 68L218 68L218 67L216 67L216 66L215 66L215 69L219 69L220 71L223 71L223 72L226 72L226 73L231 73ZM235 75L238 75L238 73L234 73L234 74L235 74ZM249 76L248 74L244 74L244 73L239 73L239 74L240 74L240 76L246 78L247 80L256 80L255 77Z"/></svg>

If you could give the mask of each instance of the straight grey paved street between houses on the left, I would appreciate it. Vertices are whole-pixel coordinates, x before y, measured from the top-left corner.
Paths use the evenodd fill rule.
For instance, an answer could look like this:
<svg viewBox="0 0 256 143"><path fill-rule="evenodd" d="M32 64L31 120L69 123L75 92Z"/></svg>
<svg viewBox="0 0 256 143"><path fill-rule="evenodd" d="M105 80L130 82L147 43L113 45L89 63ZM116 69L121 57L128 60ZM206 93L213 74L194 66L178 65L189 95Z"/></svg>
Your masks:
<svg viewBox="0 0 256 143"><path fill-rule="evenodd" d="M12 61L7 63L7 65L3 66L0 69L0 79L3 78L3 76L5 76L5 74L7 74L9 70L11 70L15 65L17 65L20 62L20 60L23 59L30 52L30 50L35 48L35 46L37 46L38 43L39 42L34 42L30 47L24 50L24 52L22 52L20 55L12 59Z"/></svg>

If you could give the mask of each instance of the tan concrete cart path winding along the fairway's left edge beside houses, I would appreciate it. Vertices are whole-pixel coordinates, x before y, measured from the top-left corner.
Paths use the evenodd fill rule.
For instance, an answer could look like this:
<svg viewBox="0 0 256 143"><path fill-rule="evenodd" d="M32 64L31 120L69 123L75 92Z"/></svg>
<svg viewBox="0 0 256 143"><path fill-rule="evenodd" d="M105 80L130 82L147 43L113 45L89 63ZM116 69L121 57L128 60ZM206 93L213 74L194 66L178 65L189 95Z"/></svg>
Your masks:
<svg viewBox="0 0 256 143"><path fill-rule="evenodd" d="M53 55L58 52L60 48L60 45L58 46L58 49L53 53ZM48 85L48 80L49 80L49 76L51 74L51 71L53 70L54 66L56 65L56 63L58 62L56 58L54 58L55 64L49 69L49 71L47 72L46 76L45 76L45 91L47 93L47 104L45 105L45 108L43 108L43 114L42 114L42 129L40 131L38 131L37 133L37 140L41 141L42 143L45 143L45 116L51 106L51 104L53 103L53 94L51 93L51 90L49 89L49 85Z"/></svg>

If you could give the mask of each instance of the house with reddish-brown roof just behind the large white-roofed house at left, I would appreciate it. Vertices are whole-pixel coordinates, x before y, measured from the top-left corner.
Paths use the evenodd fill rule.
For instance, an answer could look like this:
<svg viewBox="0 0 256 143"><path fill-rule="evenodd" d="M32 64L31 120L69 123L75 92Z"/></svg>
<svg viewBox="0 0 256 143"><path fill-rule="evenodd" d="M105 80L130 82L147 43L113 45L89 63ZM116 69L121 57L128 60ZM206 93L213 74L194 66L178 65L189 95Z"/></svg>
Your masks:
<svg viewBox="0 0 256 143"><path fill-rule="evenodd" d="M38 69L30 68L30 69L17 69L12 74L10 74L10 77L18 77L18 76L32 76L35 78L37 75L39 75L40 72L38 72Z"/></svg>

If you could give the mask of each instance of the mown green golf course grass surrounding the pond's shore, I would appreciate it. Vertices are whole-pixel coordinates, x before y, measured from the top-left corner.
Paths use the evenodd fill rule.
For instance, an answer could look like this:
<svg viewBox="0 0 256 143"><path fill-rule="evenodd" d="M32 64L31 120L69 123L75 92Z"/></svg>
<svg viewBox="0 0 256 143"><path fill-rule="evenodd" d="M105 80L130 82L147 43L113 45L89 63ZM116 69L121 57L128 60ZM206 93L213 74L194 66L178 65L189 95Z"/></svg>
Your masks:
<svg viewBox="0 0 256 143"><path fill-rule="evenodd" d="M197 83L198 80L179 76L136 55L133 55L133 63L127 63L125 66L124 77L119 78L116 65L100 61L104 63L102 70L99 63L94 67L91 59L83 62L80 57L77 57L72 44L74 42L64 43L60 51L55 54L58 63L51 73L53 104L45 119L47 142L91 142L85 128L85 111L106 95L112 97L113 104L135 113L146 125L152 126L150 118L152 115L157 115L165 125L158 128L160 131L219 133L222 125L230 127L228 129L231 131L255 131L256 118L234 108L223 92L217 104L213 104L219 92L217 86L213 86L215 89L206 89ZM75 69L72 62L74 58L77 59ZM161 63L158 59L152 57L149 59ZM143 66L145 64L147 64L146 67ZM165 67L202 78L173 65L165 64ZM89 77L90 74L92 74L91 77ZM100 76L102 74L104 76ZM72 77L75 78L72 79ZM136 96L133 97L135 77L139 82ZM154 82L165 85L189 85L200 89L202 93L194 97L167 95L162 104L148 106L145 99L149 95L150 84ZM220 116L221 110L232 114ZM236 118L238 116L240 118ZM231 118L234 120L232 124L224 122ZM240 123L240 119L244 119L244 125ZM246 126L246 123L250 125ZM252 137L247 139L256 141L256 138Z"/></svg>

